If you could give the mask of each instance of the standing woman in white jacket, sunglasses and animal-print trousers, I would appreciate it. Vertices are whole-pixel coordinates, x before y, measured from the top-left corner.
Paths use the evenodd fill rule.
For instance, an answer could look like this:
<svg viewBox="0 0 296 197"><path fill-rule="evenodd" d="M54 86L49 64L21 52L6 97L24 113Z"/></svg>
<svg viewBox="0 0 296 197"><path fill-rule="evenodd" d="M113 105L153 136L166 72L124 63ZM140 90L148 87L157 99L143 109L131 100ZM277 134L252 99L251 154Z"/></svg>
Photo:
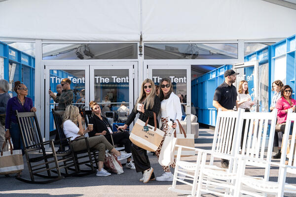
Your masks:
<svg viewBox="0 0 296 197"><path fill-rule="evenodd" d="M167 133L169 131L169 122L174 120L172 125L176 128L176 132L180 133L178 122L182 118L181 102L177 95L173 92L172 82L168 78L163 78L160 81L160 93L159 99L161 101L160 117L161 117L161 130ZM159 158L160 150L164 141L165 135L156 150L156 157ZM170 167L175 167L175 162L169 166L162 166L164 173L160 177L156 177L157 181L173 181L173 174L170 171Z"/></svg>

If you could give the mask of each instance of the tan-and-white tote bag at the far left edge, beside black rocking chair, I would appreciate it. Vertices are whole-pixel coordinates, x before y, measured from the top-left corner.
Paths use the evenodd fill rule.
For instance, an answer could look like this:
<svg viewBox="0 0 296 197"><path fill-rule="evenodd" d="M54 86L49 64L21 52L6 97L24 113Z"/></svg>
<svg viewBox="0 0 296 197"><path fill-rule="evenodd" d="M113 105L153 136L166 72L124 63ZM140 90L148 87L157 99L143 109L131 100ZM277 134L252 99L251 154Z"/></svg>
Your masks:
<svg viewBox="0 0 296 197"><path fill-rule="evenodd" d="M10 151L3 152L6 142L9 142ZM22 150L13 150L10 138L6 138L0 154L0 174L19 173L24 169Z"/></svg>

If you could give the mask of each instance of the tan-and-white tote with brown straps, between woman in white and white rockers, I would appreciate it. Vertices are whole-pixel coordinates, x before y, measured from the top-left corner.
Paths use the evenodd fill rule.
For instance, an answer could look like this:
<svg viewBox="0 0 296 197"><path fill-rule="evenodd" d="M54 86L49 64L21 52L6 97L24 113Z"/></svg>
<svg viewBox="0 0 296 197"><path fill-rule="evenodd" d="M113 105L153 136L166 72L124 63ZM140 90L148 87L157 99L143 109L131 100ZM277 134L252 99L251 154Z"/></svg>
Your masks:
<svg viewBox="0 0 296 197"><path fill-rule="evenodd" d="M179 120L177 120L180 127L180 134L177 134L177 142L176 144L181 146L188 146L194 148L194 134L186 134L184 128L180 124ZM175 158L177 158L178 147L175 148ZM189 157L195 155L195 151L192 149L182 148L181 157Z"/></svg>

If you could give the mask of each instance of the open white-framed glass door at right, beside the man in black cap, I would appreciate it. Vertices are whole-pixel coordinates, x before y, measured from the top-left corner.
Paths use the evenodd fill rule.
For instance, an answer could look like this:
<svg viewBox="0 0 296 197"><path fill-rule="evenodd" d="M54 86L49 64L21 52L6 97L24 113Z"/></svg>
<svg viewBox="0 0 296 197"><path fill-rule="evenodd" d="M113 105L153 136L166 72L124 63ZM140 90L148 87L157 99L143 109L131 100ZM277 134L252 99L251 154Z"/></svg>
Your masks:
<svg viewBox="0 0 296 197"><path fill-rule="evenodd" d="M259 64L258 61L250 61L245 62L243 64L236 64L233 65L233 69L235 72L239 72L236 76L235 87L238 90L239 82L242 80L248 81L249 87L249 94L252 97L252 100L256 101L254 107L252 107L251 111L265 111L265 108L261 108L260 105L262 104L261 101L266 100L262 99L262 97L268 98L268 89L266 90L267 93L264 93L265 86L263 85L265 82L264 75L260 77L262 79L262 86L259 87ZM262 72L263 73L263 72ZM268 73L268 72L267 72ZM266 86L268 87L268 74L267 74L267 82ZM263 103L265 106L265 102ZM264 109L264 110L263 110ZM267 99L267 111L268 111L268 99Z"/></svg>

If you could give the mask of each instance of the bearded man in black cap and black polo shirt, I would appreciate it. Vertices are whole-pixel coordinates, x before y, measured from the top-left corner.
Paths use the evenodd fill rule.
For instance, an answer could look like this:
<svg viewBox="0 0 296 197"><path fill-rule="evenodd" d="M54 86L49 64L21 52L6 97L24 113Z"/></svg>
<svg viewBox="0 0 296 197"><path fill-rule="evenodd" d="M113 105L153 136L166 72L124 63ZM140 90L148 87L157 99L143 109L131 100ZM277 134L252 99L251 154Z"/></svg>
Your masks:
<svg viewBox="0 0 296 197"><path fill-rule="evenodd" d="M225 81L216 88L213 106L217 108L222 108L222 111L231 111L234 107L238 109L237 103L237 92L233 83L236 80L236 75L239 73L232 69L226 70L224 72ZM228 160L221 160L221 165L223 168L228 168Z"/></svg>

